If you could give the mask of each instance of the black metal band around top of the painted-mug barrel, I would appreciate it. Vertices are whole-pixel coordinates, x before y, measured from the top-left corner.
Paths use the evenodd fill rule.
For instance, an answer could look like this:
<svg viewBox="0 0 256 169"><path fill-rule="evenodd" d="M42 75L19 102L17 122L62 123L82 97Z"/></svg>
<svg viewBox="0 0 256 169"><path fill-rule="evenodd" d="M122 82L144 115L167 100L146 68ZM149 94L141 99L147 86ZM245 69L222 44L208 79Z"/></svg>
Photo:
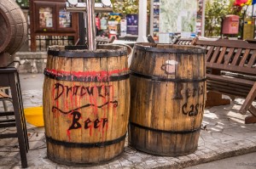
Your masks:
<svg viewBox="0 0 256 169"><path fill-rule="evenodd" d="M172 46L172 45L171 45ZM205 54L206 49L198 47L198 49L176 49L176 48L154 48L151 46L136 45L134 49L143 50L145 52L169 53L169 54Z"/></svg>

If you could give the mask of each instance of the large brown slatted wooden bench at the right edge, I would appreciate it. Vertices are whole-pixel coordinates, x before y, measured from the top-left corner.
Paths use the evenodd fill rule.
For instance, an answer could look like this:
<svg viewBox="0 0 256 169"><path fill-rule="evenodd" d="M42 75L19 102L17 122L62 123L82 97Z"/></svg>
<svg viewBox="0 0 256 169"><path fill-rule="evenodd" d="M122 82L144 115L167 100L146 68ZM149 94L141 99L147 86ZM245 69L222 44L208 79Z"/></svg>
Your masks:
<svg viewBox="0 0 256 169"><path fill-rule="evenodd" d="M241 40L218 39L205 41L196 39L193 45L207 48L207 104L209 106L229 104L221 99L224 93L245 98L239 112L247 110L253 115L246 123L256 122L256 44ZM213 91L213 92L212 92Z"/></svg>

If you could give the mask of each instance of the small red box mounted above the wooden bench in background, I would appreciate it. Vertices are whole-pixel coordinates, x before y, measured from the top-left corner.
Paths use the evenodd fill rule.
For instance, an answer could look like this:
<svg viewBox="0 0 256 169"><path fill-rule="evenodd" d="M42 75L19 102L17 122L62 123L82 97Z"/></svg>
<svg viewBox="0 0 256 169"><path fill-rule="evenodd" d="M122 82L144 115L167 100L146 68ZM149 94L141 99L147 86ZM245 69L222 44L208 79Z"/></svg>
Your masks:
<svg viewBox="0 0 256 169"><path fill-rule="evenodd" d="M222 25L223 34L237 34L239 28L239 16L229 14L225 16Z"/></svg>

